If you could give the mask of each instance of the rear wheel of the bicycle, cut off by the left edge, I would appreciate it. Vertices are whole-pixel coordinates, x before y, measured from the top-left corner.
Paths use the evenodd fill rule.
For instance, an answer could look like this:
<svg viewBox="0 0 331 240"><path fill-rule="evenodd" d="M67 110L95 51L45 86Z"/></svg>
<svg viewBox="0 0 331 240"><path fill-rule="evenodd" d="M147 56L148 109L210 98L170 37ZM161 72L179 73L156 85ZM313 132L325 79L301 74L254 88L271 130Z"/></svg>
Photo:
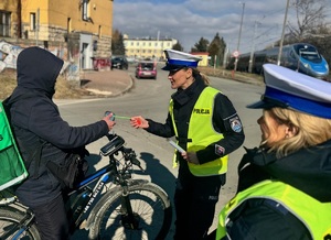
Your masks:
<svg viewBox="0 0 331 240"><path fill-rule="evenodd" d="M14 209L0 209L0 239L24 239L24 240L40 240L40 234L36 226L20 225L25 217L24 212Z"/></svg>

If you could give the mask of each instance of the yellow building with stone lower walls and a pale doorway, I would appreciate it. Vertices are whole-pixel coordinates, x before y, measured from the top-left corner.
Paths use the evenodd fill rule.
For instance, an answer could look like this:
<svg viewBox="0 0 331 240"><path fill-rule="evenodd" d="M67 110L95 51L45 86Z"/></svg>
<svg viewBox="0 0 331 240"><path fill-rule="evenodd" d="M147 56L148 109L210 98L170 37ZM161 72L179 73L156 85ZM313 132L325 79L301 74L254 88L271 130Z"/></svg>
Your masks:
<svg viewBox="0 0 331 240"><path fill-rule="evenodd" d="M110 57L113 0L1 0L0 40L58 51L75 69Z"/></svg>

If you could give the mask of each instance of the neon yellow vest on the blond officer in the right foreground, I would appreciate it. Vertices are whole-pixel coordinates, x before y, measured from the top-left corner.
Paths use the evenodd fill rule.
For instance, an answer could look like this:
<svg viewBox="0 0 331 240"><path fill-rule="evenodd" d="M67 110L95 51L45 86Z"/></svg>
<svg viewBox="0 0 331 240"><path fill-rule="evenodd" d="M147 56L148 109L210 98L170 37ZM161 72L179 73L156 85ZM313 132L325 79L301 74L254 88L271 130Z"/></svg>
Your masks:
<svg viewBox="0 0 331 240"><path fill-rule="evenodd" d="M330 239L327 237L331 237L331 203L320 203L278 181L264 181L255 184L229 200L220 212L216 239L226 236L225 226L231 221L231 214L245 200L253 198L271 199L281 204L306 226L312 239Z"/></svg>

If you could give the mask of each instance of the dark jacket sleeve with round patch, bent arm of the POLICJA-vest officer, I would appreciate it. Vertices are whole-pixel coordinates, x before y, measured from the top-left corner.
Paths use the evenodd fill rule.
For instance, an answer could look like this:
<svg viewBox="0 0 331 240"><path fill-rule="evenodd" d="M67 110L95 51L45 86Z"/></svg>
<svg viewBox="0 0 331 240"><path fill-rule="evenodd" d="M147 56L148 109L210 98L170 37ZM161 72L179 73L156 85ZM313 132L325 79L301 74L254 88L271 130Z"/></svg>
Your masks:
<svg viewBox="0 0 331 240"><path fill-rule="evenodd" d="M196 152L201 164L232 153L237 150L245 140L242 121L233 103L223 94L218 94L215 98L213 126L217 132L223 133L224 139Z"/></svg>

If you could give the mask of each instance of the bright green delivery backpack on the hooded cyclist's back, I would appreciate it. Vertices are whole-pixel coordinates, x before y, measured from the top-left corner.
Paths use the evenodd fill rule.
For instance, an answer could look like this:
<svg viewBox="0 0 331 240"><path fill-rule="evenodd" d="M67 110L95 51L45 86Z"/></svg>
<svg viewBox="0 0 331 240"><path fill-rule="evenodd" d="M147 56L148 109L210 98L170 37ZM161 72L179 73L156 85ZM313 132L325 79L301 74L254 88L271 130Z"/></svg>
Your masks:
<svg viewBox="0 0 331 240"><path fill-rule="evenodd" d="M28 171L19 152L11 127L0 102L0 190L21 183Z"/></svg>

